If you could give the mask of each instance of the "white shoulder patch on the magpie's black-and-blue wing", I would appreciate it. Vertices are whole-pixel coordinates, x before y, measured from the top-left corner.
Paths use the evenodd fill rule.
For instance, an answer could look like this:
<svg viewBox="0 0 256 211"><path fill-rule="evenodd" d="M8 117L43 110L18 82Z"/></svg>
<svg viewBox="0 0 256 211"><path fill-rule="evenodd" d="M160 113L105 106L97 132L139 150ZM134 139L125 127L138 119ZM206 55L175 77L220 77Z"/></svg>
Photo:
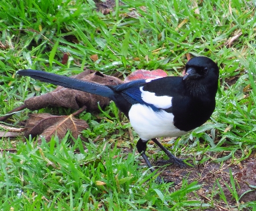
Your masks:
<svg viewBox="0 0 256 211"><path fill-rule="evenodd" d="M144 102L152 104L157 108L166 109L172 107L172 97L169 96L156 96L155 93L150 91L144 91L143 87L140 87L141 98Z"/></svg>

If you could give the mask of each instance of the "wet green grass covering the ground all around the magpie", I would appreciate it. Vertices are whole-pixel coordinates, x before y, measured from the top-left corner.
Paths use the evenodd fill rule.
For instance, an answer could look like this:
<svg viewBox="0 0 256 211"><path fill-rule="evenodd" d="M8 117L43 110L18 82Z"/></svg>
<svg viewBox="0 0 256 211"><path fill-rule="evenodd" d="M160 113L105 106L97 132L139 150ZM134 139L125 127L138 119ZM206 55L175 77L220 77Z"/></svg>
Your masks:
<svg viewBox="0 0 256 211"><path fill-rule="evenodd" d="M194 164L248 159L255 149L255 3L247 1L123 1L108 15L95 11L93 1L6 1L0 5L1 114L24 99L47 93L53 85L16 77L19 69L42 69L72 75L84 67L126 77L136 69L164 69L181 75L186 54L207 56L220 67L217 105L211 120L191 134L170 140L174 154L200 158ZM131 16L130 8L137 15ZM231 44L228 41L240 34ZM62 63L64 53L69 54ZM95 62L90 57L98 55ZM49 111L48 109L39 112ZM63 109L63 112L66 110ZM104 110L105 111L105 110ZM30 111L8 119L16 126ZM57 113L57 109L53 112ZM234 210L256 209L239 204L234 179L227 184L236 204L216 183L212 201L197 197L197 182L183 181L181 189L155 184L152 173L138 165L129 125L111 104L101 120L89 113L87 150L67 134L39 146L33 140L2 138L0 201L3 210L216 210L224 203ZM116 132L117 131L117 132ZM101 134L96 144L93 140ZM60 142L59 142L60 141ZM74 153L79 149L79 153ZM164 156L155 151L151 159ZM253 151L254 150L254 151ZM237 155L237 151L241 155ZM223 153L224 152L224 153ZM208 153L219 154L214 158Z"/></svg>

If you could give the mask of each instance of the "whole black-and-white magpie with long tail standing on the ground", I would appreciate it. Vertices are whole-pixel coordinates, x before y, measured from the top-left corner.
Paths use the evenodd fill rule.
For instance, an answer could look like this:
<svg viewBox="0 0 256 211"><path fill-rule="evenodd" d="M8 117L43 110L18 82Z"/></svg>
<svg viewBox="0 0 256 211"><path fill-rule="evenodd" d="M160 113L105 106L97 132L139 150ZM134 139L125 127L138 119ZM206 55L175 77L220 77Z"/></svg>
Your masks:
<svg viewBox="0 0 256 211"><path fill-rule="evenodd" d="M198 56L187 61L183 77L139 79L116 86L100 85L41 70L19 70L17 74L113 100L139 135L136 149L150 171L154 172L146 155L149 140L155 142L168 156L165 163L186 167L185 162L170 153L157 138L182 136L209 120L216 105L219 68L210 58ZM157 179L162 181L159 177Z"/></svg>

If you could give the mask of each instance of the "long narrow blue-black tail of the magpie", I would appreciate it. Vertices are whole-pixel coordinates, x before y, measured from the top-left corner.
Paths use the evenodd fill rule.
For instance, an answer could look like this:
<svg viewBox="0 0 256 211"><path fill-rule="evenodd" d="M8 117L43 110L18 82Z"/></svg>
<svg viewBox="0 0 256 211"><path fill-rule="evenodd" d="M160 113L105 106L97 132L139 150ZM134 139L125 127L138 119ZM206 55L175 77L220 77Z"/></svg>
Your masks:
<svg viewBox="0 0 256 211"><path fill-rule="evenodd" d="M115 94L111 88L104 85L75 78L59 76L40 70L19 70L17 74L21 76L29 76L42 82L48 82L50 84L55 84L66 88L86 91L87 93L96 94L104 97L112 98Z"/></svg>

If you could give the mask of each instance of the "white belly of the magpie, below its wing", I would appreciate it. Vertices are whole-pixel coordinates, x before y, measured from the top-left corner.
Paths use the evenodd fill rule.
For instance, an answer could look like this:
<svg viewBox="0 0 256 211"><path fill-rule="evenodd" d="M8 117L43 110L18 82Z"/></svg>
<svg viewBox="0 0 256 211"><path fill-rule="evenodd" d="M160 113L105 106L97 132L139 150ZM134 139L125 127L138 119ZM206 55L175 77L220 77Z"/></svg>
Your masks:
<svg viewBox="0 0 256 211"><path fill-rule="evenodd" d="M146 105L132 105L129 118L131 125L142 140L147 141L155 137L176 137L186 134L173 125L173 114L163 110L154 112Z"/></svg>

